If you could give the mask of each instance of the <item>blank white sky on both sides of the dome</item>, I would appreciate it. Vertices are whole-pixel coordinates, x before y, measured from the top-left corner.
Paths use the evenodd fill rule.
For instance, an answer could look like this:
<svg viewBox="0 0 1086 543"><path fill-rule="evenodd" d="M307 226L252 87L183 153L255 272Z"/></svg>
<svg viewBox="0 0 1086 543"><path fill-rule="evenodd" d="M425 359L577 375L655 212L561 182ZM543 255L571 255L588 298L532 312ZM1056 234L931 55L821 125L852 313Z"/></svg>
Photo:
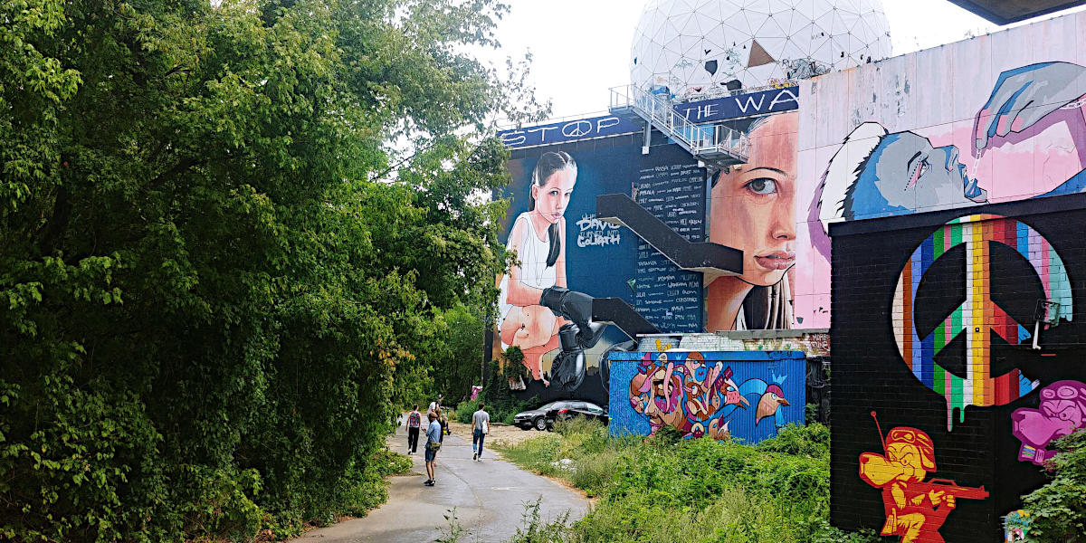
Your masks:
<svg viewBox="0 0 1086 543"><path fill-rule="evenodd" d="M532 83L552 117L605 112L608 89L630 81L630 45L645 0L506 0L498 23L502 49L487 54L504 66L531 51ZM883 0L893 54L958 41L999 27L946 0Z"/></svg>

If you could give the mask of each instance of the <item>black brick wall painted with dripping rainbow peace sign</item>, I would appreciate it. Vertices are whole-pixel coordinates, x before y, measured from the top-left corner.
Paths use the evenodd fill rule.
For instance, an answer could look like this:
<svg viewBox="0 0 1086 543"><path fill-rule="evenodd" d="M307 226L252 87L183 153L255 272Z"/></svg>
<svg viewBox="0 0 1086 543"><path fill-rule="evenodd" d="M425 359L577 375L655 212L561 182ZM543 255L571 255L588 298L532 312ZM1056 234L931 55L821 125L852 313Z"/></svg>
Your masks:
<svg viewBox="0 0 1086 543"><path fill-rule="evenodd" d="M957 230L944 226L977 213L1008 219L973 220L968 228L962 223ZM1086 364L1081 362L1086 354L1084 224L1086 195L1075 194L834 226L834 525L879 531L887 508L893 508L884 504L881 490L892 484L874 485L883 482L886 467L881 464L883 444L871 416L876 412L884 433L898 429L893 446L914 445L917 465L923 464L919 457L925 454L920 432L931 438L935 466L925 470L924 481L950 479L960 487L985 488L987 497L958 498L955 508L944 509L949 514L938 533L949 543L1002 540L1001 517L1020 506L1022 494L1046 480L1039 467L1019 459L1022 442L1011 432L1012 412L1036 407L1039 389L1046 384L1086 381ZM963 228L969 231L963 233ZM1023 247L1012 247L1020 237L1011 236L1012 228L1015 235L1027 235L1024 252ZM962 236L972 241L959 243ZM934 254L914 253L925 240L939 249ZM936 257L939 252L945 254ZM1053 252L1062 260L1065 276ZM907 266L910 274L902 278ZM922 278L910 286L920 277L917 273ZM1061 282L1061 277L1070 283ZM1064 321L1041 331L1043 349L1034 351L1030 336L1039 299L1063 302ZM955 320L959 307L965 311L958 312ZM976 377L985 368L993 377L1016 369L1024 379L962 379L970 369ZM948 413L948 403L963 409ZM866 457L862 469L868 481L860 476L864 453L877 455ZM917 488L912 485L913 491ZM937 514L927 515L930 530Z"/></svg>

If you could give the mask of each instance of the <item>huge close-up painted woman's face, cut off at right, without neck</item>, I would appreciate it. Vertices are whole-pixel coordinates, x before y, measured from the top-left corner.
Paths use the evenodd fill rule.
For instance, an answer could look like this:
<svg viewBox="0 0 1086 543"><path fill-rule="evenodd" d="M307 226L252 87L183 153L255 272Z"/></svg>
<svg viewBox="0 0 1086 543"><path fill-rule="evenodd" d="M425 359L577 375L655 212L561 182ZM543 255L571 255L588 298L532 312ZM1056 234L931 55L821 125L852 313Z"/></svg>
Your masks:
<svg viewBox="0 0 1086 543"><path fill-rule="evenodd" d="M710 192L709 239L743 251L744 281L775 285L796 262L796 113L755 128L746 164L721 172Z"/></svg>

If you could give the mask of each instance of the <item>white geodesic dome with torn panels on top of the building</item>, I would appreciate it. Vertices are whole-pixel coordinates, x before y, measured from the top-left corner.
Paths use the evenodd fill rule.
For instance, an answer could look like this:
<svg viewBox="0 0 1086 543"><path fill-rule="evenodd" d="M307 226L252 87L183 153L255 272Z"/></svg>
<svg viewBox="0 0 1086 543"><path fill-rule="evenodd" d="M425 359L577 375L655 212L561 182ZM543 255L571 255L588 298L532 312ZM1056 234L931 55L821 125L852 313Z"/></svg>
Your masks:
<svg viewBox="0 0 1086 543"><path fill-rule="evenodd" d="M680 98L717 96L735 79L763 87L889 54L881 0L649 0L630 77Z"/></svg>

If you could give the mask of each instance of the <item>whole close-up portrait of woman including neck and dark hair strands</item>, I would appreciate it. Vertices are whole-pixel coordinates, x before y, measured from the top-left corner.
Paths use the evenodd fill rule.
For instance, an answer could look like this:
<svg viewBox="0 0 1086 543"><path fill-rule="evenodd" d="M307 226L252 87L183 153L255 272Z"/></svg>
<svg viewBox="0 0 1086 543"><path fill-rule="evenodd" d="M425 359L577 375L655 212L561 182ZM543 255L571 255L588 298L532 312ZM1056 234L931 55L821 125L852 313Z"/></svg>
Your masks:
<svg viewBox="0 0 1086 543"><path fill-rule="evenodd" d="M798 119L790 112L756 121L747 163L712 182L709 239L743 251L743 275L709 280L707 331L792 328Z"/></svg>

